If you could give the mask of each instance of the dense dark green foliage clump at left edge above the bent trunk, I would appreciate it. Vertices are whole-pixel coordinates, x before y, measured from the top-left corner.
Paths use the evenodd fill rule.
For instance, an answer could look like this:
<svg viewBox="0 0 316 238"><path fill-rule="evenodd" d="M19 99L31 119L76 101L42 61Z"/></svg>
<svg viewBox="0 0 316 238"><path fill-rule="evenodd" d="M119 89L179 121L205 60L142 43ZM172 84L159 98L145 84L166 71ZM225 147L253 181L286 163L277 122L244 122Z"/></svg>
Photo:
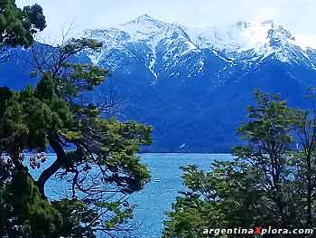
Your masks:
<svg viewBox="0 0 316 238"><path fill-rule="evenodd" d="M48 132L67 131L74 123L70 107L51 90L51 83L50 77L45 75L36 89L27 87L21 92L5 93L0 118L3 151L13 154L22 153L23 149L45 150Z"/></svg>

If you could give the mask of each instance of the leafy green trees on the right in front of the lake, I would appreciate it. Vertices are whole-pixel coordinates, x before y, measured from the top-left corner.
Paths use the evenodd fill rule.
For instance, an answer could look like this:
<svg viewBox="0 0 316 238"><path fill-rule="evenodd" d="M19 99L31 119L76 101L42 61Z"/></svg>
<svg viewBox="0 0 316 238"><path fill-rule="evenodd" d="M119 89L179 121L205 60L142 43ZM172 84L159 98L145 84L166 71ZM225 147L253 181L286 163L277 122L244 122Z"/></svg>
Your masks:
<svg viewBox="0 0 316 238"><path fill-rule="evenodd" d="M232 160L212 162L209 172L182 168L188 191L173 204L163 237L215 237L211 228L314 227L315 110L291 109L280 95L255 95L256 106L247 108L237 130L245 143L233 148Z"/></svg>

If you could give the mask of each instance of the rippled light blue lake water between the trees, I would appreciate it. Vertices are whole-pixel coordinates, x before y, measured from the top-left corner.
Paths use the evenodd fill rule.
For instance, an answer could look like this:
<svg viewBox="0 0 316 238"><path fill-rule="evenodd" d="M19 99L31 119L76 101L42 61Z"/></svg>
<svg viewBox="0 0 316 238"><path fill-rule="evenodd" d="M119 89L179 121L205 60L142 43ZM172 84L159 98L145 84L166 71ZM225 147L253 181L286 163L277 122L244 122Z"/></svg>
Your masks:
<svg viewBox="0 0 316 238"><path fill-rule="evenodd" d="M51 156L52 157L52 156ZM158 238L163 231L165 213L171 211L172 203L183 190L180 167L197 165L203 170L209 170L212 160L229 160L228 154L142 154L145 165L149 167L152 180L144 189L131 195L130 202L135 208L134 223L137 224L138 235L141 238ZM34 171L38 174L40 171ZM46 187L49 196L58 195L66 187L56 186L51 179Z"/></svg>

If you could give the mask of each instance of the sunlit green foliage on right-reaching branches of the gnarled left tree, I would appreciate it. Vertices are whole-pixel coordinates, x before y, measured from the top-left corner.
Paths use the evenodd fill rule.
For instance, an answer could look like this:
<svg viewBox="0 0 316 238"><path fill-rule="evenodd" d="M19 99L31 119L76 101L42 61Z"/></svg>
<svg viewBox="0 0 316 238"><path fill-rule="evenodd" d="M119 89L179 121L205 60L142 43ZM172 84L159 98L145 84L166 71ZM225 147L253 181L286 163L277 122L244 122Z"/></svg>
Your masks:
<svg viewBox="0 0 316 238"><path fill-rule="evenodd" d="M125 184L127 181L116 180L117 173L124 173L134 181L125 188L125 192L132 193L143 188L150 175L138 157L135 157L135 152L138 152L139 145L151 143L151 129L135 122L117 123L115 119L97 119L96 124L96 128L104 132L103 139L107 141L100 148L98 163L115 173L109 180Z"/></svg>

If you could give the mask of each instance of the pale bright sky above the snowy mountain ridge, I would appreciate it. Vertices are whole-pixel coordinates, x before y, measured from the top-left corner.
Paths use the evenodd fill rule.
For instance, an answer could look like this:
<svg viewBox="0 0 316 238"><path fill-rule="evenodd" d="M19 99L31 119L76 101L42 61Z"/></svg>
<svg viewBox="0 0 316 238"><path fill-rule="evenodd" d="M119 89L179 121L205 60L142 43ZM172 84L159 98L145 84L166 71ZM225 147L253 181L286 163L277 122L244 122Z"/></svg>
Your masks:
<svg viewBox="0 0 316 238"><path fill-rule="evenodd" d="M47 17L42 35L52 38L62 29L75 34L123 24L142 14L191 26L274 20L293 33L316 35L315 0L16 0L20 7L34 3L42 5Z"/></svg>

